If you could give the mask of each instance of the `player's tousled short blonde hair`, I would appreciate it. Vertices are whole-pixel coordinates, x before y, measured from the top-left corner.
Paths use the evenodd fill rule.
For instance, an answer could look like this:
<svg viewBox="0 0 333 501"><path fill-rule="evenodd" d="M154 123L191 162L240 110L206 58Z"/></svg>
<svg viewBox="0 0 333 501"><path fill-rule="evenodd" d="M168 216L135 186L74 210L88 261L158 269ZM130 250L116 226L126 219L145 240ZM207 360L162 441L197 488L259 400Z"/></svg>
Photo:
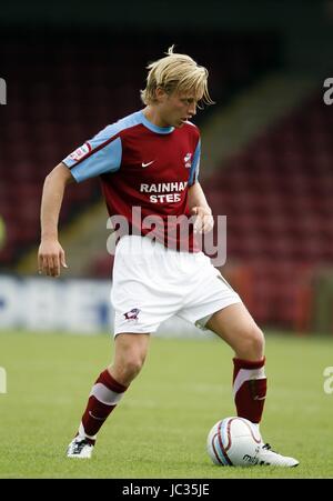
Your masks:
<svg viewBox="0 0 333 501"><path fill-rule="evenodd" d="M147 86L140 91L143 103L154 103L155 91L160 87L168 94L183 92L195 97L203 104L214 104L208 90L208 70L196 64L190 56L174 53L173 48L168 49L167 57L147 67Z"/></svg>

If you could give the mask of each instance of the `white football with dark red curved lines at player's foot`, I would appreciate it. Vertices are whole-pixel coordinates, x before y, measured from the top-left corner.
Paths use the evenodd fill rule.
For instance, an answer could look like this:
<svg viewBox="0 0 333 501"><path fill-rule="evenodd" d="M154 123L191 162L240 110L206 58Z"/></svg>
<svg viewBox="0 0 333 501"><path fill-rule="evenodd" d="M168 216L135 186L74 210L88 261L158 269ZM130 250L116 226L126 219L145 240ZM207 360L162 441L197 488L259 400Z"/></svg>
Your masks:
<svg viewBox="0 0 333 501"><path fill-rule="evenodd" d="M208 453L220 467L251 467L258 464L262 439L256 427L243 418L225 418L210 430Z"/></svg>

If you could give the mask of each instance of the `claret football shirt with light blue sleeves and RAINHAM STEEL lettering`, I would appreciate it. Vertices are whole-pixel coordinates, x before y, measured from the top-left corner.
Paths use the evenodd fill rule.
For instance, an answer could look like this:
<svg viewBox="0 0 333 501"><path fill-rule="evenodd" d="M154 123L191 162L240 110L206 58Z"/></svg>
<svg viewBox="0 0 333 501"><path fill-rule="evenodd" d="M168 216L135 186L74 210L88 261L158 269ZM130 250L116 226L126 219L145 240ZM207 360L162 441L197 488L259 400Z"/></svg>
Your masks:
<svg viewBox="0 0 333 501"><path fill-rule="evenodd" d="M180 129L157 127L138 111L105 127L63 163L78 182L99 176L109 214L125 217L131 229L144 236L151 231L141 226L148 216L157 214L163 221L168 216L190 216L188 189L198 180L200 132L191 122ZM141 209L139 222L133 220L133 207ZM157 240L167 247L199 251L193 227L182 236L170 228L176 222L168 223L169 228L163 224L157 229ZM188 240L185 246L182 238Z"/></svg>

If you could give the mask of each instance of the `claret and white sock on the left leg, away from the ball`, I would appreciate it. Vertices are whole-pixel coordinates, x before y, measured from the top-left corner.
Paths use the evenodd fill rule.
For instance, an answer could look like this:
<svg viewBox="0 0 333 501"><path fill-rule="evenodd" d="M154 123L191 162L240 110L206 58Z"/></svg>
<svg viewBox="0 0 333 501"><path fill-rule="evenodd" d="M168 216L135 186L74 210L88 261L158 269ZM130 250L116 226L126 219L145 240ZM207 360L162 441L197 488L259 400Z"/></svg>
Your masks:
<svg viewBox="0 0 333 501"><path fill-rule="evenodd" d="M128 387L115 381L107 369L101 372L90 392L78 434L94 444L99 429L127 389Z"/></svg>

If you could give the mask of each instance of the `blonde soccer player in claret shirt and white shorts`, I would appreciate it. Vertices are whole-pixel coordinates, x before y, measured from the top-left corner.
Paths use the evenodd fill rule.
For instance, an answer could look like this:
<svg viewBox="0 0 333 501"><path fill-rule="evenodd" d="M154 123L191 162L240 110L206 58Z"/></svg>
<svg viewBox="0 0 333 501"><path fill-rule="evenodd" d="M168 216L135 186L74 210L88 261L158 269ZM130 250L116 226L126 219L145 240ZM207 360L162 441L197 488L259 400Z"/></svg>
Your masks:
<svg viewBox="0 0 333 501"><path fill-rule="evenodd" d="M90 458L98 431L121 401L144 362L150 333L179 315L222 338L234 350L233 394L238 415L259 430L266 394L264 337L240 297L198 248L195 231L209 232L212 211L199 182L200 132L191 118L211 104L208 71L169 49L148 67L141 91L145 107L108 126L59 163L46 178L41 202L39 271L67 268L58 241L65 186L100 177L110 216L128 222L114 258L111 301L114 360L95 380L69 458ZM140 209L140 214L132 209ZM158 221L154 238L144 218ZM170 218L170 217L173 217ZM174 217L189 220L186 232ZM262 441L261 464L299 462Z"/></svg>

